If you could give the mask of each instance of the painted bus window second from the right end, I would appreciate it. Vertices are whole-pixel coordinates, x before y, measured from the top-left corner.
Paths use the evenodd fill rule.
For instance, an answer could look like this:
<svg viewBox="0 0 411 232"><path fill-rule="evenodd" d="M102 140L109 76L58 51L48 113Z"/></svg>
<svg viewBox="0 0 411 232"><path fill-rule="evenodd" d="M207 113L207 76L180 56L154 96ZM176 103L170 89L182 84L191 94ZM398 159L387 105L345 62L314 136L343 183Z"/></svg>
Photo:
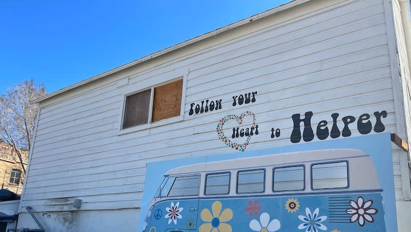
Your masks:
<svg viewBox="0 0 411 232"><path fill-rule="evenodd" d="M273 191L304 190L304 166L274 168Z"/></svg>

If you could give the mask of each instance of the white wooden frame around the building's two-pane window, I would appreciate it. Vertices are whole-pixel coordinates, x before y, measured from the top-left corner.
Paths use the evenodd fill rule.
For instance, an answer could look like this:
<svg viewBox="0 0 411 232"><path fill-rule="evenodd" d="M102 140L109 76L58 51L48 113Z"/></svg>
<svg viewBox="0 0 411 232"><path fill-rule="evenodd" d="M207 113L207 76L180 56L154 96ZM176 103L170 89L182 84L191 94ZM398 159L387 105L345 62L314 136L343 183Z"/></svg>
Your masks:
<svg viewBox="0 0 411 232"><path fill-rule="evenodd" d="M134 79L139 77L141 75L134 75L134 76L129 76L128 78L122 79L118 81L118 88L122 88L121 90L121 96L122 96L122 101L123 101L123 106L122 106L122 112L119 114L119 125L118 125L118 131L117 135L121 136L122 134L127 134L131 132L136 132L140 130L145 130L153 127L158 127L166 124L171 124L171 123L176 123L184 120L184 113L185 113L185 95L186 95L186 85L187 85L187 78L188 78L188 69L179 69L173 72L169 73L164 73L162 75L159 75L158 77L156 76L156 80L161 80L158 82L158 84L152 85L148 81L139 81L134 84L128 84L130 79ZM170 79L170 76L176 77ZM143 79L144 76L141 76L141 79ZM143 79L144 80L144 79ZM176 81L182 80L182 91L181 91L181 106L180 106L180 115L177 115L172 118L167 118L163 119L157 122L151 122L152 119L152 113L153 113L153 102L154 102L154 88L157 88L159 86L167 85ZM144 83L141 83L144 82ZM138 89L138 90L136 90ZM150 121L147 119L147 123L145 124L140 124L140 125L135 125L135 126L130 126L127 128L123 129L123 123L124 123L124 117L125 117L125 107L126 107L126 100L127 96L145 91L151 89L151 96L150 96L150 104L149 104L149 109L148 109L148 118L150 118Z"/></svg>

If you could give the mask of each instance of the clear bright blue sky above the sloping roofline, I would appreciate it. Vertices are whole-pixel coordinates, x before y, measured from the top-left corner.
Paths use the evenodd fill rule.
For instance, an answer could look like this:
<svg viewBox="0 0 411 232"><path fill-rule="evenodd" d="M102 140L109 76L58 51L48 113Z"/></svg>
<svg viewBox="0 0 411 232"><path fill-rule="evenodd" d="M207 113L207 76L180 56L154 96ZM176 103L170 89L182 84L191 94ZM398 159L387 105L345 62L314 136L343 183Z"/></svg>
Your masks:
<svg viewBox="0 0 411 232"><path fill-rule="evenodd" d="M0 94L53 92L290 0L0 1Z"/></svg>

